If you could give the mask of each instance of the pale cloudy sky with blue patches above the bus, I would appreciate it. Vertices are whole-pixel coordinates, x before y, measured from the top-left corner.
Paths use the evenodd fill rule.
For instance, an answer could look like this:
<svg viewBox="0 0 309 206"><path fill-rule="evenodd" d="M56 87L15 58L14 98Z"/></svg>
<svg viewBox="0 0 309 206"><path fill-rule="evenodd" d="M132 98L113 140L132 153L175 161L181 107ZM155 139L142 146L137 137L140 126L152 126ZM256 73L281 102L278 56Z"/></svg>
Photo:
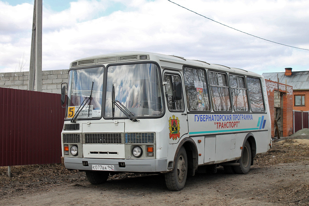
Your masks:
<svg viewBox="0 0 309 206"><path fill-rule="evenodd" d="M308 0L172 0L261 38L309 49ZM24 54L29 71L33 1L0 0L0 72ZM254 71L309 70L309 51L261 40L167 0L43 0L43 70L124 51L182 56Z"/></svg>

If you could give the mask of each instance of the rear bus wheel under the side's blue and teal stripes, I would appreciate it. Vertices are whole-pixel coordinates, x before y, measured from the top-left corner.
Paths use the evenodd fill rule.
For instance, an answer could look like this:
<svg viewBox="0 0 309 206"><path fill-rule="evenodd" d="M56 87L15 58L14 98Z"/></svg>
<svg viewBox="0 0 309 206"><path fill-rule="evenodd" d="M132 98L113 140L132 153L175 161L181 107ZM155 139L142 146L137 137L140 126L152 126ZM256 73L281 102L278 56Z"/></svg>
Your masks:
<svg viewBox="0 0 309 206"><path fill-rule="evenodd" d="M248 141L243 145L241 157L237 161L239 166L234 166L234 170L237 174L247 174L251 166L251 147Z"/></svg>

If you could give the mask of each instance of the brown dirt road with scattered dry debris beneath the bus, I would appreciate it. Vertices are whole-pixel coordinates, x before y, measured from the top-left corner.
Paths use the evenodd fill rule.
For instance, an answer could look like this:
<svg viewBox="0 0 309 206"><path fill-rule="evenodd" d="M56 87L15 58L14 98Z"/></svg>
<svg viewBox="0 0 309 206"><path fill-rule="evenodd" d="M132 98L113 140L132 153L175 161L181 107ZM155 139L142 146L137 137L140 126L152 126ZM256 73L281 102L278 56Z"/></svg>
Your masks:
<svg viewBox="0 0 309 206"><path fill-rule="evenodd" d="M246 175L225 174L219 167L216 174L190 177L178 192L168 191L164 176L157 174L120 176L99 186L91 185L84 178L64 182L56 179L54 184L3 193L0 205L308 206L309 145L293 143L295 140L276 144L267 154L256 157ZM19 182L20 186L23 181ZM3 188L12 189L7 184Z"/></svg>

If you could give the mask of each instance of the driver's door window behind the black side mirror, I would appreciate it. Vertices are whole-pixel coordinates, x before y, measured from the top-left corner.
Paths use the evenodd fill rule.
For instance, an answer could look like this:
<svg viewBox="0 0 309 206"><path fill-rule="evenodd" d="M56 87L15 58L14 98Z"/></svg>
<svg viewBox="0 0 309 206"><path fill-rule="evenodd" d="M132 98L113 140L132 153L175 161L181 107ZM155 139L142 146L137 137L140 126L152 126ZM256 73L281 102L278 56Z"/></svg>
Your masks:
<svg viewBox="0 0 309 206"><path fill-rule="evenodd" d="M172 102L172 83L173 82L180 82L180 77L176 75L165 75L166 79L166 93L167 93L167 108L169 110L184 110L184 104L183 100L176 100L175 103L169 103Z"/></svg>

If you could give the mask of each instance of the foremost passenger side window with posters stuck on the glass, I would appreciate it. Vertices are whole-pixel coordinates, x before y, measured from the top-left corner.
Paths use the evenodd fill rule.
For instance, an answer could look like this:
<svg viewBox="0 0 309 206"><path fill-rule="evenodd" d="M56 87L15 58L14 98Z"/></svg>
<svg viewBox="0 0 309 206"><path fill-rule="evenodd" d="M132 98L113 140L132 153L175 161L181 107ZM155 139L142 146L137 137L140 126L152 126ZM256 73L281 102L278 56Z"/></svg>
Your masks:
<svg viewBox="0 0 309 206"><path fill-rule="evenodd" d="M206 75L203 69L184 67L184 89L190 111L210 111Z"/></svg>

